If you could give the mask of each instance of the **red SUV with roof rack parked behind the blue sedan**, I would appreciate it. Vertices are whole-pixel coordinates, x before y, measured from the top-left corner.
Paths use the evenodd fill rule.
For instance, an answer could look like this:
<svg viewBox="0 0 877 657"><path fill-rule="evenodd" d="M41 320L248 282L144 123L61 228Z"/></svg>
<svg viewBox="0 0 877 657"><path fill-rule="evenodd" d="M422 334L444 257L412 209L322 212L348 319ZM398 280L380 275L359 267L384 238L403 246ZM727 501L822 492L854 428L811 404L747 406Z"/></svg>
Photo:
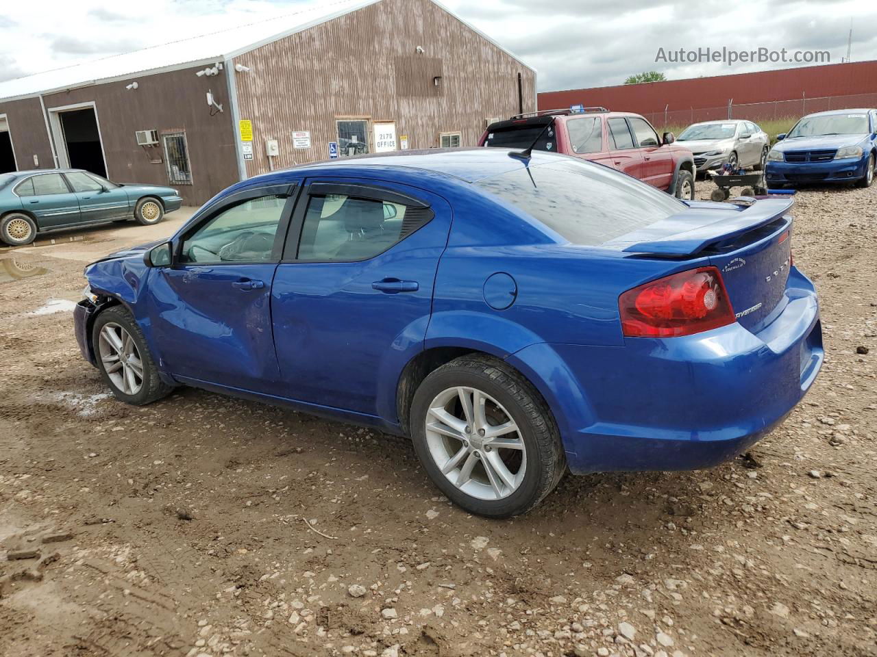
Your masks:
<svg viewBox="0 0 877 657"><path fill-rule="evenodd" d="M652 124L631 112L601 107L522 114L488 125L478 145L520 149L533 145L538 151L610 166L684 201L695 197L691 151L674 145L672 132L659 138Z"/></svg>

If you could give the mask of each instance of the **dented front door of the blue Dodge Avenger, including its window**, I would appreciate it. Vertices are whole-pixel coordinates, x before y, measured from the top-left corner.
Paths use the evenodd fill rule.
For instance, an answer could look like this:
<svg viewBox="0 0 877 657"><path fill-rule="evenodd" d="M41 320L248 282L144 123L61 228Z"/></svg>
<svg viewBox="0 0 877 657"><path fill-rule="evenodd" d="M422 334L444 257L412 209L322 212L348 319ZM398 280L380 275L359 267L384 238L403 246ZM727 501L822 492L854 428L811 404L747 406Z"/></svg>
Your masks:
<svg viewBox="0 0 877 657"><path fill-rule="evenodd" d="M150 272L146 307L161 364L176 378L276 392L271 283L296 186L256 187L207 210Z"/></svg>

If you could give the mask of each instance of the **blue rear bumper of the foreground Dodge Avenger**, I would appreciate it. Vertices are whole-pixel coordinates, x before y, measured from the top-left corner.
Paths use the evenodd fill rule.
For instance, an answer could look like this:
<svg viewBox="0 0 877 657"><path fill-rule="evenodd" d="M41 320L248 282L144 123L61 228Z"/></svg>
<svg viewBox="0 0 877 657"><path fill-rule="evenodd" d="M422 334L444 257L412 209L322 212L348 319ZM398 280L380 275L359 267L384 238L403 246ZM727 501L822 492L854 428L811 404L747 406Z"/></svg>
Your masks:
<svg viewBox="0 0 877 657"><path fill-rule="evenodd" d="M545 382L574 473L705 468L768 434L816 379L816 292L795 268L787 296L758 334L735 323L623 347L539 344L510 363Z"/></svg>

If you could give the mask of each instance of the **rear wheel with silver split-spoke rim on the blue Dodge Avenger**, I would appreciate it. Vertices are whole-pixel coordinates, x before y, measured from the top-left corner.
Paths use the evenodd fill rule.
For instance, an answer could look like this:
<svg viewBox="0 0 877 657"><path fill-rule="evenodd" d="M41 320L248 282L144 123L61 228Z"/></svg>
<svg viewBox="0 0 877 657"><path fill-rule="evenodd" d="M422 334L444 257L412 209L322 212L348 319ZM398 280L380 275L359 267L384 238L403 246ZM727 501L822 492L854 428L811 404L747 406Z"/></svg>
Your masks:
<svg viewBox="0 0 877 657"><path fill-rule="evenodd" d="M470 406L475 406L474 399L485 400L478 405L484 409L481 421L463 410L463 397ZM448 423L436 412L444 413ZM509 422L514 429L493 437L506 447L481 433L481 427L489 431L508 427ZM545 401L519 372L494 358L464 356L432 371L414 395L410 427L417 456L432 483L454 504L487 518L529 511L567 471L560 433ZM442 467L451 466L445 475ZM451 477L456 482L467 478L458 487Z"/></svg>

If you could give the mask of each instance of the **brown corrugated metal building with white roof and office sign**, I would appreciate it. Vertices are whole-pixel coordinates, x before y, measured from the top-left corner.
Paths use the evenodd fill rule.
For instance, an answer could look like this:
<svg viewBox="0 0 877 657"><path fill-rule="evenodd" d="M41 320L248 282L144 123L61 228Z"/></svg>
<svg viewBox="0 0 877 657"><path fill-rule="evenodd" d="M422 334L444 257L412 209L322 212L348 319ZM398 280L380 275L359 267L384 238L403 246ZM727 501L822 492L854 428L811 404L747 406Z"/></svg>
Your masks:
<svg viewBox="0 0 877 657"><path fill-rule="evenodd" d="M348 0L0 82L0 171L75 166L198 204L336 153L474 145L534 109L535 71L441 5Z"/></svg>

